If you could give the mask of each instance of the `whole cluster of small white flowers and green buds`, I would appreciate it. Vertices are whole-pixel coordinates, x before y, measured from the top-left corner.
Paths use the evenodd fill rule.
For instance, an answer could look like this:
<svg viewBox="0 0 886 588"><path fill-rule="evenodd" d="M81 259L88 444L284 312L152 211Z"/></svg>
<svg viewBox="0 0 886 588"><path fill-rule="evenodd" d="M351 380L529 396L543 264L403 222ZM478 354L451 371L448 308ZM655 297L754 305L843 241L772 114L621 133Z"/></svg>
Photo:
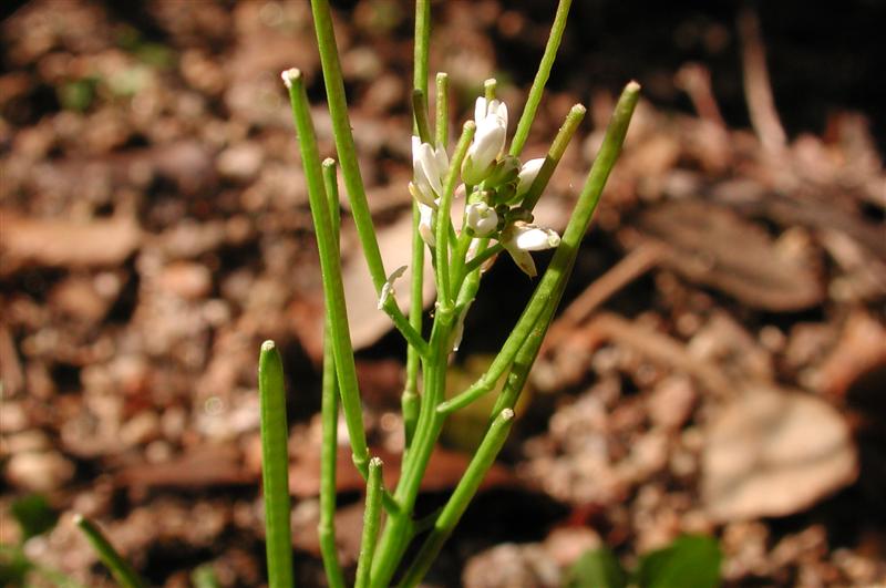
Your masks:
<svg viewBox="0 0 886 588"><path fill-rule="evenodd" d="M464 184L455 193L465 194L467 199L462 230L475 239L496 239L523 271L535 277L529 252L557 247L560 241L554 230L534 225L530 210L521 206L545 159L521 164L517 157L505 154L507 106L503 102L478 97L474 122L476 132L460 171ZM424 241L434 247L435 212L450 172L445 146L422 143L413 136L412 166L409 189L419 204L419 229Z"/></svg>

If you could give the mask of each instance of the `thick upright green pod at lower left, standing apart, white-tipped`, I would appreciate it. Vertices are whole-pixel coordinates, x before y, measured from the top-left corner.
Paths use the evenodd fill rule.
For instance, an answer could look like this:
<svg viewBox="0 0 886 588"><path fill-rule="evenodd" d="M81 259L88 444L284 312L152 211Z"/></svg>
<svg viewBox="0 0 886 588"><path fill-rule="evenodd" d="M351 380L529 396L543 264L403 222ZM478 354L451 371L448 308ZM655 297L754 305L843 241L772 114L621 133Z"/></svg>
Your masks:
<svg viewBox="0 0 886 588"><path fill-rule="evenodd" d="M274 341L261 343L258 393L268 582L275 588L287 588L293 586L292 532L289 526L289 433L286 422L284 365Z"/></svg>

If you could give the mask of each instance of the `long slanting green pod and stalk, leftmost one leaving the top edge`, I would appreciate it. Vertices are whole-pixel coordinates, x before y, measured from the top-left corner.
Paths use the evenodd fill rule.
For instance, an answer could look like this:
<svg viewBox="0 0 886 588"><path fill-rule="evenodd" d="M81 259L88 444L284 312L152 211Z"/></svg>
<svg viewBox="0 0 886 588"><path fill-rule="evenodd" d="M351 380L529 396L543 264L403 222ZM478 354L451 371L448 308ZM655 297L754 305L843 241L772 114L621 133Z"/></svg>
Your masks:
<svg viewBox="0 0 886 588"><path fill-rule="evenodd" d="M363 178L360 175L360 166L357 162L357 149L354 147L353 133L351 132L350 117L348 116L348 101L344 95L344 81L341 75L339 51L336 47L336 31L332 28L329 0L311 0L311 11L313 13L313 28L317 33L317 45L320 50L320 63L323 70L327 101L329 102L329 115L332 121L332 134L336 138L336 151L341 163L341 174L348 188L348 199L357 225L357 234L360 237L360 244L363 246L363 255L367 259L369 274L375 287L375 293L381 296L381 290L388 280L388 274L384 271L384 262L379 250L372 215L369 212ZM388 298L383 310L391 317L394 327L411 345L419 350L424 350L425 345L421 334L410 324L393 297Z"/></svg>

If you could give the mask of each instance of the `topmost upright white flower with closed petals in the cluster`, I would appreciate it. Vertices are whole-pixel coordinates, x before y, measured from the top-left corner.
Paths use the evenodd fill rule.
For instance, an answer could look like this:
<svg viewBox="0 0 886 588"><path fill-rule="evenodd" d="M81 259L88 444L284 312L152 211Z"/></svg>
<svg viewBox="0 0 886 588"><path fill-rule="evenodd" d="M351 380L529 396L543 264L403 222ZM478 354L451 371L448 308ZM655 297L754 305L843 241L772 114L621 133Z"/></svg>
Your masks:
<svg viewBox="0 0 886 588"><path fill-rule="evenodd" d="M462 165L462 179L472 186L488 177L495 167L495 161L505 151L507 106L498 100L486 102L481 96L474 106L474 121L477 130Z"/></svg>

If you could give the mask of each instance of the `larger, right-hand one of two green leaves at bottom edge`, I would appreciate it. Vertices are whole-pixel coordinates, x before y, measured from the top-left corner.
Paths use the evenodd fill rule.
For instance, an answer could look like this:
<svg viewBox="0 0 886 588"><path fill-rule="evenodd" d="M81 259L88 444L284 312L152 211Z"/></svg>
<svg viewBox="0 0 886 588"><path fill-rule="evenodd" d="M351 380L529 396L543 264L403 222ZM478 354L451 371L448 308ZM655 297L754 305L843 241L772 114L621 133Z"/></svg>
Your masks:
<svg viewBox="0 0 886 588"><path fill-rule="evenodd" d="M717 539L682 535L668 547L640 558L637 585L641 588L717 588L722 557Z"/></svg>

